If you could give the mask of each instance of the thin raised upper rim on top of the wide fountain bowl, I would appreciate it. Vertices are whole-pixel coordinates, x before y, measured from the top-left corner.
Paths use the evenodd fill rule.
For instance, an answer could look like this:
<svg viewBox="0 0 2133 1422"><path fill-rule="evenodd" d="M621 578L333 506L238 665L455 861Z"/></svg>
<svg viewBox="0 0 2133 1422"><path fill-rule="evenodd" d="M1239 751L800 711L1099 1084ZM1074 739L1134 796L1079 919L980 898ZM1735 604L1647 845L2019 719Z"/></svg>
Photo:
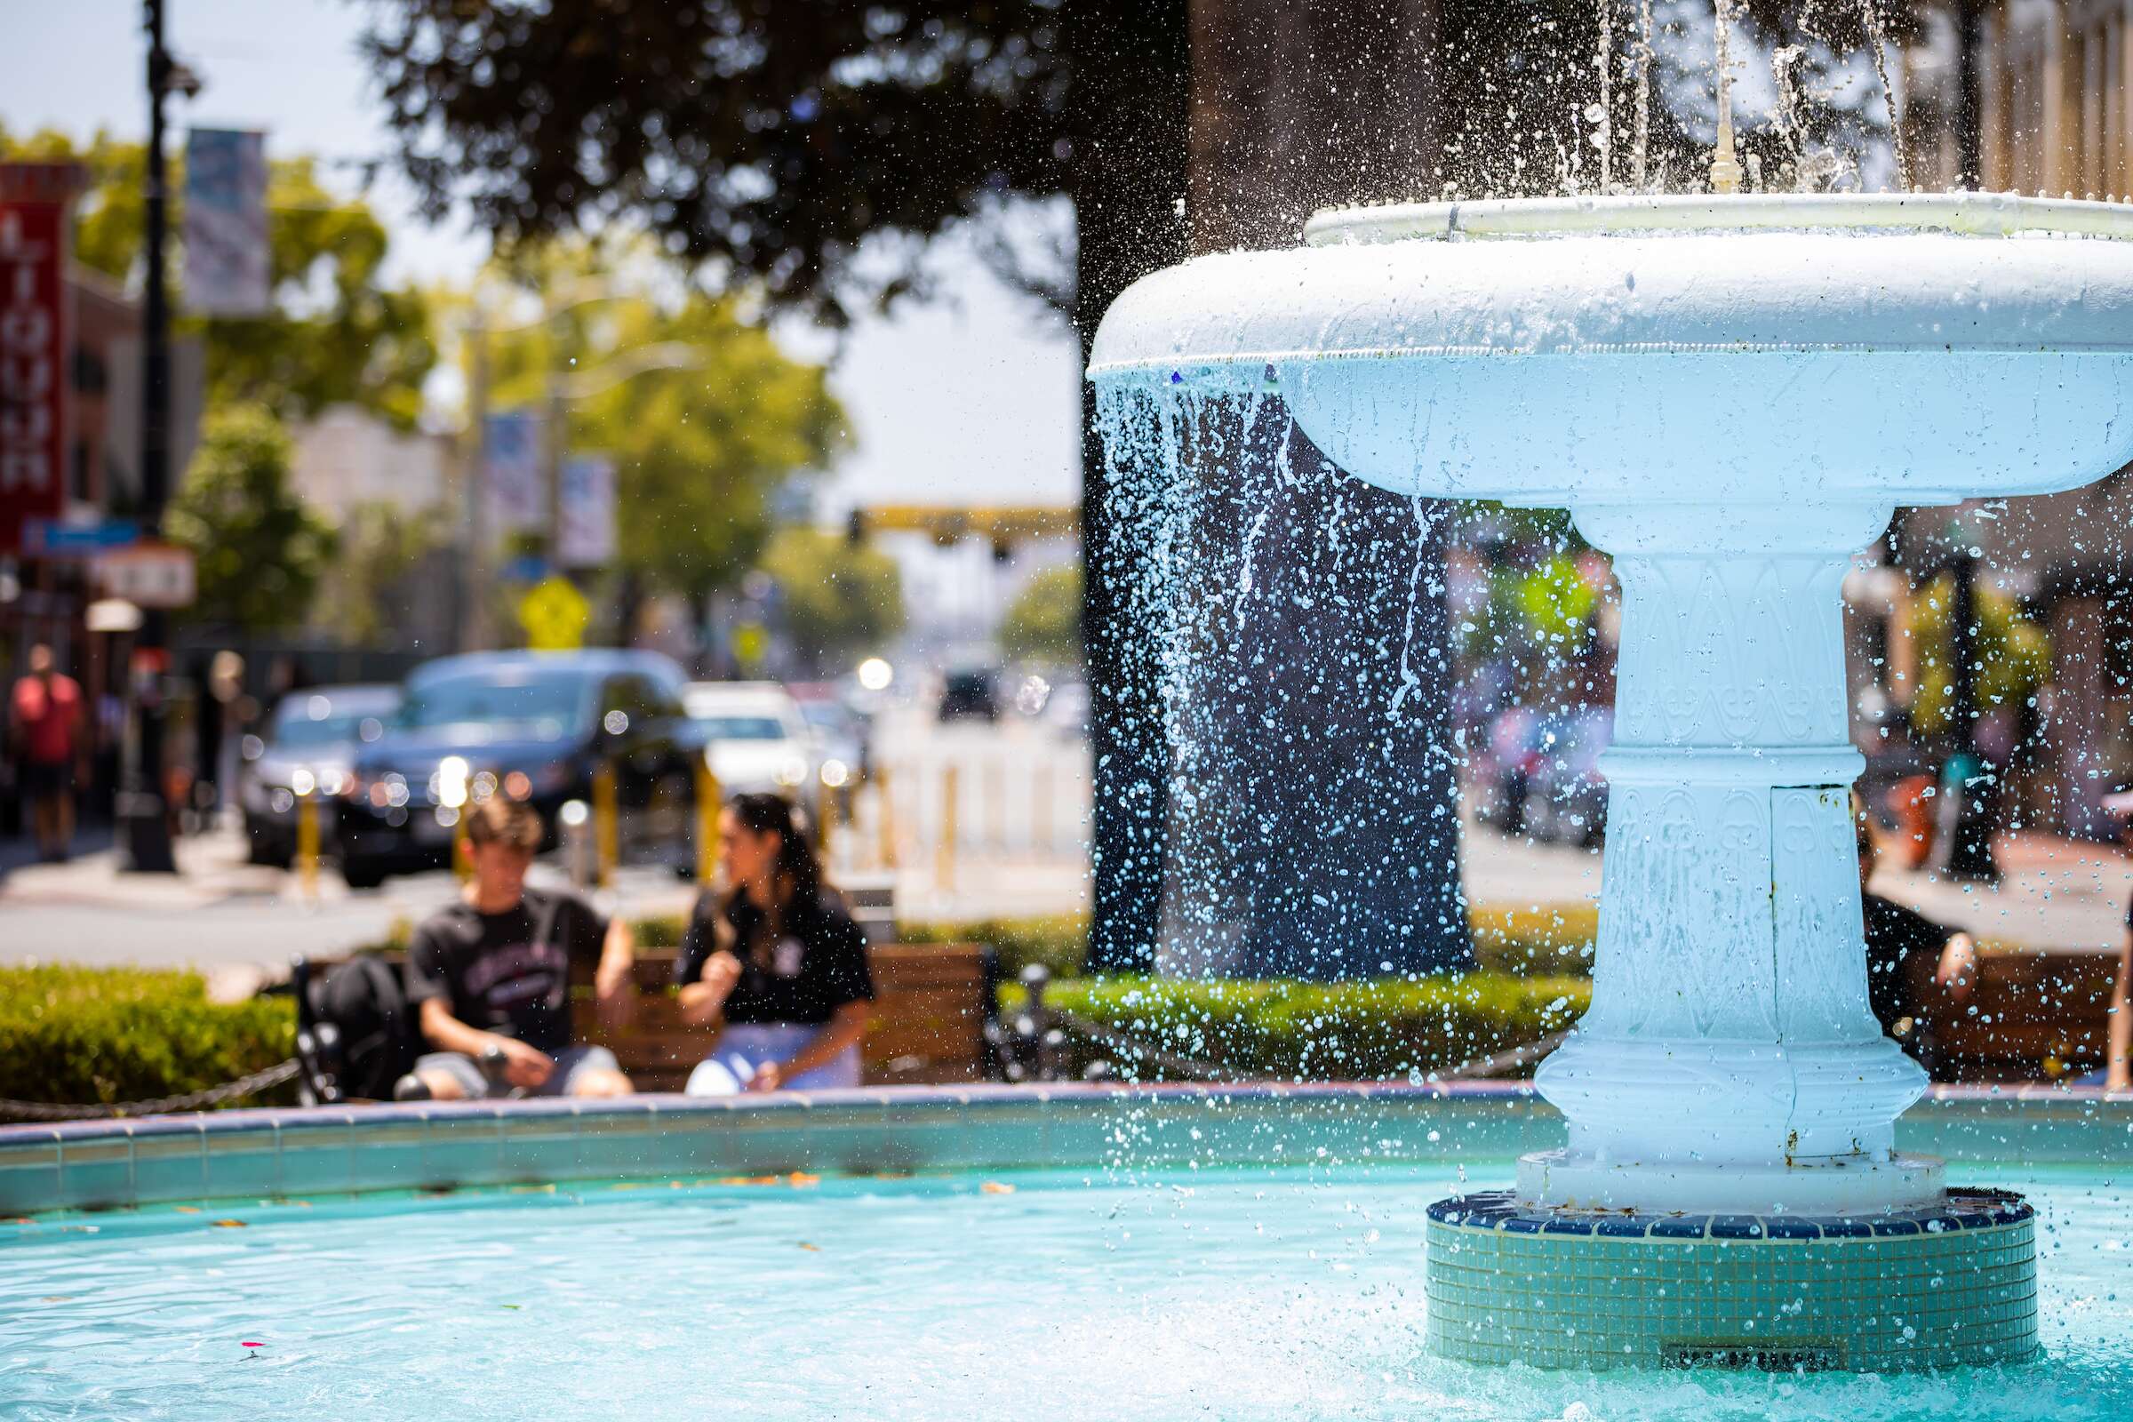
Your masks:
<svg viewBox="0 0 2133 1422"><path fill-rule="evenodd" d="M2014 192L1755 192L1386 203L1320 209L1303 224L1303 243L1337 247L1465 237L1802 230L2133 241L2133 203L2026 198Z"/></svg>

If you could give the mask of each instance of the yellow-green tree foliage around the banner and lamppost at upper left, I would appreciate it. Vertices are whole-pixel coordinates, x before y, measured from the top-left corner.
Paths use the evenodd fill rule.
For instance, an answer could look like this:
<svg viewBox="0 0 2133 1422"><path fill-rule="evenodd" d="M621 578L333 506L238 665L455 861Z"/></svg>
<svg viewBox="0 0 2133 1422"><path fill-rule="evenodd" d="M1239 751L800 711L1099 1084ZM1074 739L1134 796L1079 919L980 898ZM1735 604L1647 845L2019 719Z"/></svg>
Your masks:
<svg viewBox="0 0 2133 1422"><path fill-rule="evenodd" d="M13 139L0 156L79 162L90 190L75 207L75 260L115 281L141 269L147 145L98 132L75 143L62 132ZM171 160L173 232L183 207L183 158ZM269 164L267 241L275 311L260 318L186 318L173 262L179 330L198 330L207 356L207 403L258 401L284 418L326 405L363 405L407 429L422 409L422 379L437 360L431 303L416 288L388 288L386 228L360 198L331 192L318 160ZM179 245L173 241L173 254Z"/></svg>

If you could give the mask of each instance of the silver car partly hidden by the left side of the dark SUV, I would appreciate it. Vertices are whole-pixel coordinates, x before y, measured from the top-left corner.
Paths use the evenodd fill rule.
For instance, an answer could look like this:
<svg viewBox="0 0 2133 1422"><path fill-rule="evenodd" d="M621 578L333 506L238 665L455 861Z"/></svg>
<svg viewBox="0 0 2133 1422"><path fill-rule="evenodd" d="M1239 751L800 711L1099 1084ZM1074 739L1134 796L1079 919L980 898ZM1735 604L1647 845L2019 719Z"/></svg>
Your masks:
<svg viewBox="0 0 2133 1422"><path fill-rule="evenodd" d="M252 863L288 868L296 857L296 797L320 802L320 849L333 838L333 797L356 750L384 736L399 712L399 686L311 686L273 708L258 736L245 736L237 804L245 814Z"/></svg>

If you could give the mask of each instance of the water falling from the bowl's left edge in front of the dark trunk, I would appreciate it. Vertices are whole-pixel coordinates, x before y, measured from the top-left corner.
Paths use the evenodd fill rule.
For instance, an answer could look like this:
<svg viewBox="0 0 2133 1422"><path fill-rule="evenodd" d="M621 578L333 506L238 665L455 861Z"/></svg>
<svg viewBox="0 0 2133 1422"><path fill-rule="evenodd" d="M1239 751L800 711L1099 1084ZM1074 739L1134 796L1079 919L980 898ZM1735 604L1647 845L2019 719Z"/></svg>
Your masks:
<svg viewBox="0 0 2133 1422"><path fill-rule="evenodd" d="M1118 652L1167 746L1152 966L1463 966L1442 505L1340 473L1256 377L1109 379L1096 403L1139 546L1096 576L1118 580Z"/></svg>

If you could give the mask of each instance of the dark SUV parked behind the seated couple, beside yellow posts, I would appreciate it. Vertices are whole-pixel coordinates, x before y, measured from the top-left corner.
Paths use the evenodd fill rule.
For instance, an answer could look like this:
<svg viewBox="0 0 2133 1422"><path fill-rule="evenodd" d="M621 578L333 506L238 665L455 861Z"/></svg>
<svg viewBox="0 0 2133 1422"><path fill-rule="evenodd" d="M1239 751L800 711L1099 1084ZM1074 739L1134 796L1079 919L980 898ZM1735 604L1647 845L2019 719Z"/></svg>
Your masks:
<svg viewBox="0 0 2133 1422"><path fill-rule="evenodd" d="M616 767L623 855L689 861L702 740L680 710L685 684L657 652L474 652L416 667L343 787L341 874L369 889L448 866L456 806L491 793L531 802L552 844L557 810L591 802L602 761Z"/></svg>

